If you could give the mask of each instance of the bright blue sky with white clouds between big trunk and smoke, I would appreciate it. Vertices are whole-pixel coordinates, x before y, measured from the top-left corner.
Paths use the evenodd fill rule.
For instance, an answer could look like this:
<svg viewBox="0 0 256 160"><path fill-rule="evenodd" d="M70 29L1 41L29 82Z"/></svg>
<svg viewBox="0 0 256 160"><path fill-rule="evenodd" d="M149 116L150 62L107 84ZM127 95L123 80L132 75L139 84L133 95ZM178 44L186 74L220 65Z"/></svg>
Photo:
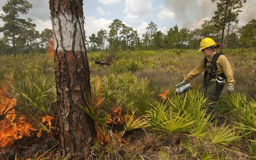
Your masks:
<svg viewBox="0 0 256 160"><path fill-rule="evenodd" d="M86 18L86 29L90 35L95 27L101 26L108 29L108 20L119 19L124 24L132 26L138 30L141 36L145 32L145 28L150 21L158 25L163 32L173 27L176 23L175 13L164 7L164 0L95 0L84 1L84 14ZM165 10L166 12L163 12ZM162 13L162 19L158 18L158 14ZM164 17L163 17L164 16ZM96 22L101 19L102 23ZM94 23L95 22L95 23ZM98 24L100 23L100 24ZM93 25L91 25L93 24ZM95 25L98 24L98 25ZM96 27L98 28L98 27Z"/></svg>

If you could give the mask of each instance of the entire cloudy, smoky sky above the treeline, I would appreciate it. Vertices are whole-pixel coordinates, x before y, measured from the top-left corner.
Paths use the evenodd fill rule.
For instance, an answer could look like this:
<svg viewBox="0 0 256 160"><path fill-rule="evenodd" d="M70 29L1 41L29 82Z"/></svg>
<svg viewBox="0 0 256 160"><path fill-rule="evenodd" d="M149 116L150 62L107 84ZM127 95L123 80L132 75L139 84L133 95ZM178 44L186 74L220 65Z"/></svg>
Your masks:
<svg viewBox="0 0 256 160"><path fill-rule="evenodd" d="M48 0L28 0L33 8L24 18L31 18L36 30L52 29ZM7 0L0 0L2 6ZM127 26L138 31L139 36L146 32L146 27L153 21L164 34L178 25L179 28L193 30L200 28L204 20L214 16L216 3L211 0L84 0L86 36L97 34L100 29L109 31L108 26L114 19L122 20ZM256 0L247 0L239 15L238 26L243 26L256 19ZM4 22L0 19L0 26ZM0 37L2 37L0 33Z"/></svg>

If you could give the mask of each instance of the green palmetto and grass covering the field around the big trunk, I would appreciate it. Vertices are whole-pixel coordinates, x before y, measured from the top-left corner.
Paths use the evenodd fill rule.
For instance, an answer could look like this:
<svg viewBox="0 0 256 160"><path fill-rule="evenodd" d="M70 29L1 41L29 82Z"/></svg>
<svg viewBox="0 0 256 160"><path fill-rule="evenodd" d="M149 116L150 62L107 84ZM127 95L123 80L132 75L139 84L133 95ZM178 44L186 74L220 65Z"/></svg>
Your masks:
<svg viewBox="0 0 256 160"><path fill-rule="evenodd" d="M196 50L89 53L92 98L86 100L88 108L81 108L98 128L90 158L254 159L256 50L243 49L241 54L240 49L228 49L224 54L234 69L236 93L227 95L224 90L216 110L210 112L197 91L200 75L191 82L193 90L173 94L174 85L202 58ZM112 65L94 64L105 57L113 59ZM9 85L9 96L17 100L16 111L35 128L56 132L41 123L42 116L57 117L51 57L1 56L0 62L0 84ZM176 71L166 72L170 66ZM163 101L158 94L167 89L170 92Z"/></svg>

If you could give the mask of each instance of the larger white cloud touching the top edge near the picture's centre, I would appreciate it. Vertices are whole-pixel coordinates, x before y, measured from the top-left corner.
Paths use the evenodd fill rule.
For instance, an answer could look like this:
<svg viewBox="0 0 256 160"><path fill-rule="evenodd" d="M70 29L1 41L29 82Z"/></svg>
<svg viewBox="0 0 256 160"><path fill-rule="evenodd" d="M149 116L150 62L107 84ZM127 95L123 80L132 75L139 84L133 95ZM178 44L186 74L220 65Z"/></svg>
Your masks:
<svg viewBox="0 0 256 160"><path fill-rule="evenodd" d="M132 15L148 15L153 12L152 0L125 0L124 13Z"/></svg>

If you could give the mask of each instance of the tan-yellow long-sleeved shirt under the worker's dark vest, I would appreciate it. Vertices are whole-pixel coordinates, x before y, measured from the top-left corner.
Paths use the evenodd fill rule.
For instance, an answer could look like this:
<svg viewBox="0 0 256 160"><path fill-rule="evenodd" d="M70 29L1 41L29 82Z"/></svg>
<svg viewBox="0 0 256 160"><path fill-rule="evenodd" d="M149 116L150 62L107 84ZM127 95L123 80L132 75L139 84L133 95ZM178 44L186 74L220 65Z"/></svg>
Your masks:
<svg viewBox="0 0 256 160"><path fill-rule="evenodd" d="M216 54L216 53L217 52L214 52L211 57L206 56L206 58L208 60L207 66L210 66L210 62L212 61L212 58L213 58L214 54ZM223 54L220 55L216 61L216 65L218 67L218 71L216 72L215 70L213 70L213 74L224 73L225 76L227 77L228 86L236 84L236 81L234 80L233 70L232 70L230 63L228 62L228 59L226 58L226 56L224 56ZM194 77L196 77L198 74L200 74L203 70L204 70L204 58L202 58L200 60L200 62L195 66L195 68L186 75L184 80L189 82ZM214 79L212 79L211 81L214 81Z"/></svg>

